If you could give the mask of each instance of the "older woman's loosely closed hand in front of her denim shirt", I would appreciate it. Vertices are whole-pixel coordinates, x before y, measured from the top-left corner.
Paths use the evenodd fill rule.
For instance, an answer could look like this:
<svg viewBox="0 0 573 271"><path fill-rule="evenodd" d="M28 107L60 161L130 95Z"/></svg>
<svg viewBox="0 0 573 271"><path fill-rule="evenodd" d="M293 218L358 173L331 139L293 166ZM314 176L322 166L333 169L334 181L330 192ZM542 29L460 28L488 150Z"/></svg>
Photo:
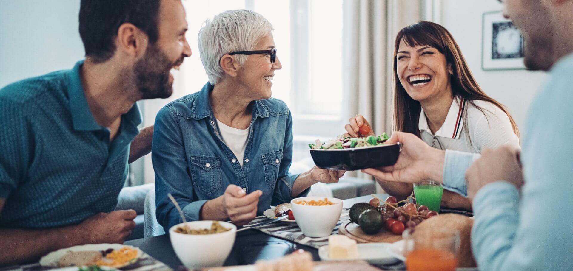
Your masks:
<svg viewBox="0 0 573 271"><path fill-rule="evenodd" d="M223 208L234 224L248 224L257 216L258 198L261 195L261 190L247 195L239 186L229 185L223 194Z"/></svg>

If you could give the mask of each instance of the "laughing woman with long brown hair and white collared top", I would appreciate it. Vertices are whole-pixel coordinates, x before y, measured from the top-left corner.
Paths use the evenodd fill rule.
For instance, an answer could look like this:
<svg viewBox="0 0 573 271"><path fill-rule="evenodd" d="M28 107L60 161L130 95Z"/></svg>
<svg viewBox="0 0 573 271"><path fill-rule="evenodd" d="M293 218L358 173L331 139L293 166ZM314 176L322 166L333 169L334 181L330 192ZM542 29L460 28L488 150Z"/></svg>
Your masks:
<svg viewBox="0 0 573 271"><path fill-rule="evenodd" d="M394 130L413 133L437 149L481 153L519 146L519 131L505 107L480 89L456 41L443 26L421 21L399 31L394 47ZM350 118L347 135L370 124ZM422 180L420 180L422 181ZM399 200L412 185L380 182ZM471 209L469 200L444 190L442 206Z"/></svg>

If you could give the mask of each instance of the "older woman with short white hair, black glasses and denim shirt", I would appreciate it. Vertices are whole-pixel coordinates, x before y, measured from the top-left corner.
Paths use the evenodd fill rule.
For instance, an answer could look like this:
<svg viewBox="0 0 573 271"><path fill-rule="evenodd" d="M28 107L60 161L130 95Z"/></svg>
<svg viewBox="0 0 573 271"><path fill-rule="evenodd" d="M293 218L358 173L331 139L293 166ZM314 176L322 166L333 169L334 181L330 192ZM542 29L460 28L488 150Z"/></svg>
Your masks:
<svg viewBox="0 0 573 271"><path fill-rule="evenodd" d="M249 10L229 10L199 32L199 54L209 82L198 93L158 113L152 144L157 220L164 229L187 220L238 225L269 205L305 196L316 182L344 172L313 168L289 174L292 116L270 98L281 69L272 25Z"/></svg>

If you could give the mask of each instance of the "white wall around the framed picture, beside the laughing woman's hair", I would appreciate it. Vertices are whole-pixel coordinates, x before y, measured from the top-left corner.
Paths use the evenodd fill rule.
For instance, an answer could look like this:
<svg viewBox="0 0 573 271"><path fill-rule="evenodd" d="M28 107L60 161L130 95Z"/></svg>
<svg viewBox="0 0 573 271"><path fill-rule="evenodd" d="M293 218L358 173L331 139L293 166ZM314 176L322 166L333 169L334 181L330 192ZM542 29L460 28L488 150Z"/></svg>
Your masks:
<svg viewBox="0 0 573 271"><path fill-rule="evenodd" d="M501 10L496 0L434 0L435 22L448 29L460 46L474 77L492 98L508 107L520 131L525 130L527 110L545 74L540 71L481 69L482 14Z"/></svg>

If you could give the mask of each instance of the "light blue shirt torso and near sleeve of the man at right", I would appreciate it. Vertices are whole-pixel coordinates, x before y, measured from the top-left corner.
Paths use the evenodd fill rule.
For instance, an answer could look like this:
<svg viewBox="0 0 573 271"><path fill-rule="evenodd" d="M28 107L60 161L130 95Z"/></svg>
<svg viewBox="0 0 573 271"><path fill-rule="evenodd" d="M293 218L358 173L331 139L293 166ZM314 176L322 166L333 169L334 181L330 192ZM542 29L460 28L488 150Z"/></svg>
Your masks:
<svg viewBox="0 0 573 271"><path fill-rule="evenodd" d="M500 181L473 200L472 248L480 270L572 270L572 73L553 74L529 110L521 199L515 186Z"/></svg>

